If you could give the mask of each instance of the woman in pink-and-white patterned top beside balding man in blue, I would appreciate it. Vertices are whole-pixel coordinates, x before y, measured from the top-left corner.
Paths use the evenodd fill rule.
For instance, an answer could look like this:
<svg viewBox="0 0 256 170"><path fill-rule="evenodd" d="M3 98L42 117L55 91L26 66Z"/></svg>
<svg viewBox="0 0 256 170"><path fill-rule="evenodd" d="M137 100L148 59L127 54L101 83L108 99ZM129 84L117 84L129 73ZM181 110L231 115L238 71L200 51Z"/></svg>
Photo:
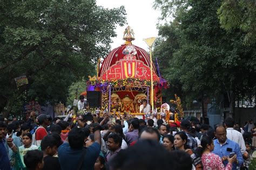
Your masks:
<svg viewBox="0 0 256 170"><path fill-rule="evenodd" d="M211 137L204 137L201 140L201 160L203 162L204 169L207 170L231 170L232 169L232 163L237 158L237 155L234 155L232 158L223 158L228 160L228 164L225 167L223 162L221 161L221 158L212 153L214 149L213 140Z"/></svg>

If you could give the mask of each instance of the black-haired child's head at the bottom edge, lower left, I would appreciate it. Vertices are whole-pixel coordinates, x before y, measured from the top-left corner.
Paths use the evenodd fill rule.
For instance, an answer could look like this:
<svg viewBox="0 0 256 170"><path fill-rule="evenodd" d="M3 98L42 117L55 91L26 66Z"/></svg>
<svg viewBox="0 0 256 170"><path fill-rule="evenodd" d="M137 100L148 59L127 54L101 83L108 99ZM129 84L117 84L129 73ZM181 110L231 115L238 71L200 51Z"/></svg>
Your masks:
<svg viewBox="0 0 256 170"><path fill-rule="evenodd" d="M28 151L24 155L27 170L41 170L44 167L43 152L38 150Z"/></svg>

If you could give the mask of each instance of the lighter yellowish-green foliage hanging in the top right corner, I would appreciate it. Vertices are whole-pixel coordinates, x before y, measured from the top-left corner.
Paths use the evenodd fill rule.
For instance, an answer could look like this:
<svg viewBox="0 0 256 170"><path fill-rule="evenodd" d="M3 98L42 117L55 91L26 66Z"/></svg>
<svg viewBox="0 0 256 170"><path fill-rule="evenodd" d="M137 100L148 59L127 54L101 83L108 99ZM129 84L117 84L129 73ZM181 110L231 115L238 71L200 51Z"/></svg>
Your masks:
<svg viewBox="0 0 256 170"><path fill-rule="evenodd" d="M223 0L218 9L221 27L227 31L245 32L245 44L256 42L256 3L254 1Z"/></svg>

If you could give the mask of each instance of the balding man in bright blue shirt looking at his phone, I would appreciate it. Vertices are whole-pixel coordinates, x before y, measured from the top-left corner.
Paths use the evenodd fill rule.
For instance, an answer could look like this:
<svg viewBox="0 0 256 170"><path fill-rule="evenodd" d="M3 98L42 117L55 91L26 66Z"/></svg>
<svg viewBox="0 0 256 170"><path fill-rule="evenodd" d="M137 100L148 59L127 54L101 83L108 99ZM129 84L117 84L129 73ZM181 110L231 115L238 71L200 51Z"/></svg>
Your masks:
<svg viewBox="0 0 256 170"><path fill-rule="evenodd" d="M226 166L228 163L227 157L230 155L231 152L234 152L237 155L237 161L235 161L236 163L232 164L232 169L235 170L237 169L237 167L240 167L244 163L240 147L236 142L227 139L227 132L225 127L222 125L217 126L214 134L217 139L213 141L213 153L219 155L221 160L223 160L223 164Z"/></svg>

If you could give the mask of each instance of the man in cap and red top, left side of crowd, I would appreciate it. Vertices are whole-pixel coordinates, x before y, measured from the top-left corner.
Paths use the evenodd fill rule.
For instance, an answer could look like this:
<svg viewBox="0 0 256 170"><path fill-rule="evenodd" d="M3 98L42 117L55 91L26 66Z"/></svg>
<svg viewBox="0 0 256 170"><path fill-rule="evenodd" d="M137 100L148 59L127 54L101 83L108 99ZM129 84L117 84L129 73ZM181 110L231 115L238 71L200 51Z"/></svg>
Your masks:
<svg viewBox="0 0 256 170"><path fill-rule="evenodd" d="M49 118L50 118L50 115L46 115L46 114L40 114L37 117L39 127L36 129L36 132L35 132L36 146L40 146L42 139L47 135L46 128L49 125Z"/></svg>

